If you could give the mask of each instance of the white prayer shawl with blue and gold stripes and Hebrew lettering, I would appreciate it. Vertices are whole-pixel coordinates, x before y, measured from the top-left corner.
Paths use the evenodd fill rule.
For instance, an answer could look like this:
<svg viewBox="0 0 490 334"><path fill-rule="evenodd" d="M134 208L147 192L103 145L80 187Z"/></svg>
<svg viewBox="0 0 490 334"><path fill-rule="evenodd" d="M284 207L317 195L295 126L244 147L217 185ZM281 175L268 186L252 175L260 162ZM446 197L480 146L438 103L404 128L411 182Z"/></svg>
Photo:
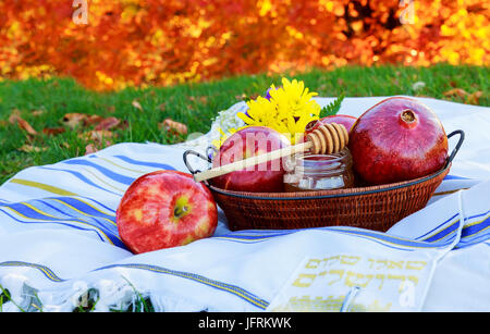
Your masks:
<svg viewBox="0 0 490 334"><path fill-rule="evenodd" d="M346 98L340 113L358 116L382 99ZM490 110L418 100L466 139L429 205L387 233L231 232L220 211L210 238L132 255L114 218L124 190L151 171L187 172L183 152L203 151L209 134L21 171L0 187L1 309L72 311L93 298L109 311L146 298L156 311L490 311ZM212 128L244 109L220 113Z"/></svg>

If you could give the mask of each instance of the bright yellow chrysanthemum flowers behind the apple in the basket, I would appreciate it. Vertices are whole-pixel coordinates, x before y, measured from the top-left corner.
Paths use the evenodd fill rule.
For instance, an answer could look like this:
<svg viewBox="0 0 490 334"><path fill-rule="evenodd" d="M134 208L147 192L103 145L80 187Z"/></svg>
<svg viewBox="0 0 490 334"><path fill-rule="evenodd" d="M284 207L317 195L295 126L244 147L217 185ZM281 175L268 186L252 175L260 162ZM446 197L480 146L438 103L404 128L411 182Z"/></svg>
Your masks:
<svg viewBox="0 0 490 334"><path fill-rule="evenodd" d="M306 124L318 120L320 106L313 99L303 82L282 78L282 87L271 85L270 99L258 97L247 102L246 113L238 113L246 126L268 126L285 135L295 144L298 134L305 132Z"/></svg>

